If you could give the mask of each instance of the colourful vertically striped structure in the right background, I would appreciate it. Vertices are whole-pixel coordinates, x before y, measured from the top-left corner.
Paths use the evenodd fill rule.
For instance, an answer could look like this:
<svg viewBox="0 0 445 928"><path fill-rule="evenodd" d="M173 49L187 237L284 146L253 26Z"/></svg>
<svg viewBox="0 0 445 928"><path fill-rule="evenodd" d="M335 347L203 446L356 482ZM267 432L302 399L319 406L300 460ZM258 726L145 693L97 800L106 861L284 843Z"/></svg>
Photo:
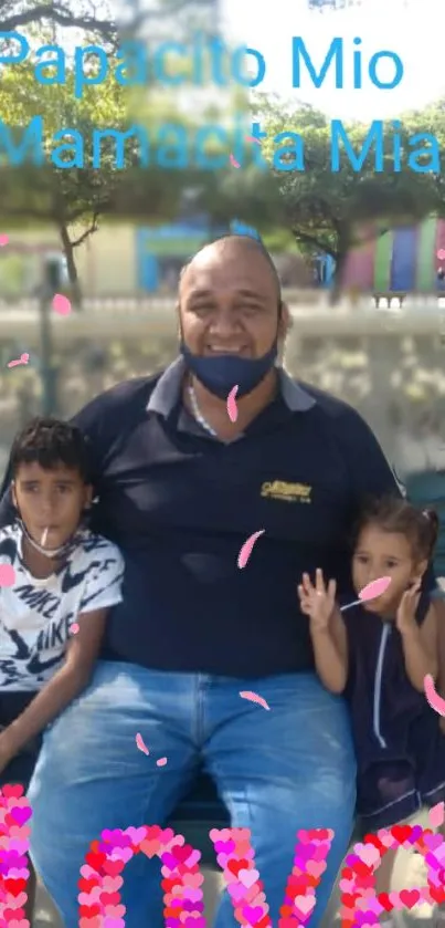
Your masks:
<svg viewBox="0 0 445 928"><path fill-rule="evenodd" d="M391 229L348 256L345 290L434 293L445 283L445 219Z"/></svg>

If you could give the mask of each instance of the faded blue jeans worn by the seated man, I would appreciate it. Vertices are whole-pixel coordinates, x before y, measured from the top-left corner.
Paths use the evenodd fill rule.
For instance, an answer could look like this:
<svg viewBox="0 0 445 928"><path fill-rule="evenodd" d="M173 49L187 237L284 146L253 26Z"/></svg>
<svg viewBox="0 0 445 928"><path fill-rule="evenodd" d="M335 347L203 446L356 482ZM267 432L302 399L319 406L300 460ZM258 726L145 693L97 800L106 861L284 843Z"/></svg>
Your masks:
<svg viewBox="0 0 445 928"><path fill-rule="evenodd" d="M254 690L271 711L242 699ZM149 757L136 747L140 732ZM156 761L167 757L167 765ZM352 832L356 763L348 712L311 674L236 680L98 664L85 692L50 727L29 797L31 852L65 928L77 928L77 880L104 828L163 826L199 767L214 779L232 825L252 834L278 924L299 828L335 840L317 889L315 928ZM136 855L121 888L126 928L163 928L160 861ZM224 893L215 928L237 922Z"/></svg>

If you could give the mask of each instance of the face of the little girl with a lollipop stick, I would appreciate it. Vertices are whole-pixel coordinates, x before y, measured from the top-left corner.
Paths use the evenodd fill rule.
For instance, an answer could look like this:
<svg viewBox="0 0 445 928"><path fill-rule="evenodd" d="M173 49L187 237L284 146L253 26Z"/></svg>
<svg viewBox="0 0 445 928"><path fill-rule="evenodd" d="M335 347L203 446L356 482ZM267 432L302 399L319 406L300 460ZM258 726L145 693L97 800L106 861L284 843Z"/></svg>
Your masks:
<svg viewBox="0 0 445 928"><path fill-rule="evenodd" d="M365 525L358 539L352 559L352 581L357 594L381 576L390 576L391 584L377 599L363 607L378 615L394 614L403 593L423 576L427 561L416 561L412 544L405 535L385 532L379 525Z"/></svg>

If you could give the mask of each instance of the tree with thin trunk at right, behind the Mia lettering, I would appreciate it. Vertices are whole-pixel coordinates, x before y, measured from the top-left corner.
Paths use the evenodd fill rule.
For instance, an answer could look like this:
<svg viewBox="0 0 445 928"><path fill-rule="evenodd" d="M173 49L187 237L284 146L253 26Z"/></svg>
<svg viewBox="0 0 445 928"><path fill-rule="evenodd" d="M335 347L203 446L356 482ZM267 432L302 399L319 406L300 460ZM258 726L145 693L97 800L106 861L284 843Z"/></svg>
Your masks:
<svg viewBox="0 0 445 928"><path fill-rule="evenodd" d="M384 123L382 127L381 170L375 170L373 147L360 169L354 169L346 147L338 146L339 169L335 171L333 129L324 113L306 104L289 110L272 98L258 104L256 113L262 129L267 132L262 148L277 179L295 241L303 251L324 252L336 261L332 300L338 296L351 248L393 225L418 221L436 209L437 187L432 174L416 174L404 161L401 170L394 169L392 124ZM399 133L405 152L414 124L412 115ZM343 128L359 155L364 150L370 126L352 123ZM287 166L289 169L283 169Z"/></svg>

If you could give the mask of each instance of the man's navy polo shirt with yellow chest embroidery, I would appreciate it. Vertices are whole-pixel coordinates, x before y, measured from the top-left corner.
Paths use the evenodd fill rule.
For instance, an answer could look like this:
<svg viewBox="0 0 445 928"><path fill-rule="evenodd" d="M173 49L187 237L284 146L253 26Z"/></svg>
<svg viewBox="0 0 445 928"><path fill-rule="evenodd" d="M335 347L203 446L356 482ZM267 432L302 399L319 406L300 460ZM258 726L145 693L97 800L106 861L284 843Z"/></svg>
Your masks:
<svg viewBox="0 0 445 928"><path fill-rule="evenodd" d="M91 441L93 529L126 563L104 657L232 677L310 670L297 584L321 567L348 591L352 520L364 493L396 491L391 468L354 409L283 371L240 438L212 438L182 406L184 369L119 384L74 420Z"/></svg>

